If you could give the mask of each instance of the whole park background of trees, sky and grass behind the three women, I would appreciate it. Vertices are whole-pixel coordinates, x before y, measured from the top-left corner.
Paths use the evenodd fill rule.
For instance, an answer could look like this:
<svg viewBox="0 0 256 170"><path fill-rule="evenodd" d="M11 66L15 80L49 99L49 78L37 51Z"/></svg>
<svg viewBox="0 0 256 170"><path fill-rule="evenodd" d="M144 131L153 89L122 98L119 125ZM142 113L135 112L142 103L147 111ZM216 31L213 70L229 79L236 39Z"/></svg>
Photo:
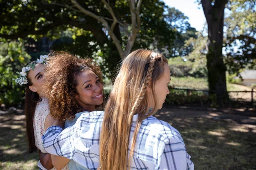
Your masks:
<svg viewBox="0 0 256 170"><path fill-rule="evenodd" d="M170 94L156 116L180 131L195 169L255 170L254 0L0 0L0 169L37 169L13 80L27 62L52 51L92 57L108 95L138 48L168 58Z"/></svg>

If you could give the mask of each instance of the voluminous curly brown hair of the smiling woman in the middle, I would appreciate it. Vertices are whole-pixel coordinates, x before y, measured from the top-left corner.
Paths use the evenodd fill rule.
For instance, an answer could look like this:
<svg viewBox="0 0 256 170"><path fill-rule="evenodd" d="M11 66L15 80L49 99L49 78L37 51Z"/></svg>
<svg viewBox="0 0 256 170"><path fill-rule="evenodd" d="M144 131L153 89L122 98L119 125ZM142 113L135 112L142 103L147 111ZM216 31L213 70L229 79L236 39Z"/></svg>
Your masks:
<svg viewBox="0 0 256 170"><path fill-rule="evenodd" d="M43 88L49 99L51 116L64 122L73 119L80 111L76 91L79 74L91 70L103 85L102 73L99 65L90 58L81 59L64 51L55 51L49 56Z"/></svg>

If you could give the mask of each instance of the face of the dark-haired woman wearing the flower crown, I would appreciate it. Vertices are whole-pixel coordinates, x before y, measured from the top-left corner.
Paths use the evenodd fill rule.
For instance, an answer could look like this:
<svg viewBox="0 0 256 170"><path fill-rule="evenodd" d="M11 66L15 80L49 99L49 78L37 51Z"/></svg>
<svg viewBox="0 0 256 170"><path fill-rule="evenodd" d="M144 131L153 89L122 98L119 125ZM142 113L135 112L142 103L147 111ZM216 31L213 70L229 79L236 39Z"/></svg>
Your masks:
<svg viewBox="0 0 256 170"><path fill-rule="evenodd" d="M28 79L32 83L32 85L29 86L29 89L38 93L40 97L44 96L44 93L42 92L42 81L45 74L44 68L44 64L36 64L34 70L31 69L28 72Z"/></svg>

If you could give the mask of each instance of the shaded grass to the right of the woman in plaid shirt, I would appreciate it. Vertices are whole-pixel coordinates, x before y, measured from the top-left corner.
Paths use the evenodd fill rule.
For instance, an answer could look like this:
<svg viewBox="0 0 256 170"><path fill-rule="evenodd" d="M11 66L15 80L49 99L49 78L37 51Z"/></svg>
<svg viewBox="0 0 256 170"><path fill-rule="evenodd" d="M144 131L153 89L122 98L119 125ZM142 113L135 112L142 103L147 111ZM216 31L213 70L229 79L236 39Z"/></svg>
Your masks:
<svg viewBox="0 0 256 170"><path fill-rule="evenodd" d="M231 119L155 115L180 131L195 170L256 170L256 126Z"/></svg>

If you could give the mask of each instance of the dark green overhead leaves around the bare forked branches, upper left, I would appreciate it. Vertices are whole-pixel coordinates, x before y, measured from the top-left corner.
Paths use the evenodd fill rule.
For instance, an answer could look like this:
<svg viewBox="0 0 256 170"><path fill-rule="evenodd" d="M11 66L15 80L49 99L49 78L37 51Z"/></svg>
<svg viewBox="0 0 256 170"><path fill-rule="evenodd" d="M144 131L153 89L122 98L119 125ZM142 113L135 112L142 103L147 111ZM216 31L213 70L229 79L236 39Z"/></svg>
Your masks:
<svg viewBox="0 0 256 170"><path fill-rule="evenodd" d="M111 15L102 0L77 2L84 9L102 18L108 18L108 24L111 25ZM131 34L131 11L128 1L111 1L109 5L119 21L113 33L125 49L128 35ZM71 6L69 0L0 1L0 13L4 16L0 23L0 37L29 37L38 41L41 37L47 36L51 40L58 39L58 42L52 44L52 50L70 51L80 56L92 56L93 51L100 49L109 71L113 71L121 58L105 26ZM158 42L160 48L172 44L175 31L164 20L164 8L165 3L160 0L142 3L140 32L133 49L149 47L154 41ZM65 31L71 31L72 34L63 36ZM95 45L88 45L88 42Z"/></svg>

